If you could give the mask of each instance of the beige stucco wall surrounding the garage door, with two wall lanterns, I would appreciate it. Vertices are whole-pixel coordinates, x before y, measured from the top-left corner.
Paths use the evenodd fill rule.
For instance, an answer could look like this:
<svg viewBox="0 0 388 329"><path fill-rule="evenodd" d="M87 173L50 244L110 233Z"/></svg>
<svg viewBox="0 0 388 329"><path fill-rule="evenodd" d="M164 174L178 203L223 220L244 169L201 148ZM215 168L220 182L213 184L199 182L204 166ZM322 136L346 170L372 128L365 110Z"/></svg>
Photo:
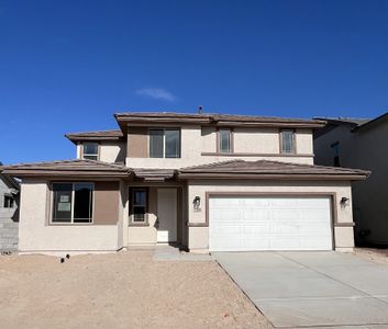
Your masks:
<svg viewBox="0 0 388 329"><path fill-rule="evenodd" d="M189 181L188 182L188 219L190 225L206 224L207 216L207 192L230 192L230 193L328 193L335 195L335 218L334 245L340 251L352 251L354 247L353 238L353 212L352 212L352 189L351 182L274 182L274 181ZM195 212L192 201L196 196L201 198L200 212ZM341 207L340 200L350 198L348 205ZM333 219L334 220L334 219ZM346 226L347 225L347 226ZM190 251L206 252L209 249L209 227L188 227L188 248Z"/></svg>

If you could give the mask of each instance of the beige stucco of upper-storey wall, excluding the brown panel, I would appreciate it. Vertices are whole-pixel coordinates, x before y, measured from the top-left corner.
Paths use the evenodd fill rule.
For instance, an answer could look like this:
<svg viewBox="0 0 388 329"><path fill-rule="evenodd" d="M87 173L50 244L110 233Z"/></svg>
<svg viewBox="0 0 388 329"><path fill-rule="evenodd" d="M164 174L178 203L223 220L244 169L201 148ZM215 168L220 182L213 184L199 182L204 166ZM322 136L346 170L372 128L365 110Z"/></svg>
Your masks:
<svg viewBox="0 0 388 329"><path fill-rule="evenodd" d="M217 129L199 125L181 127L181 158L126 158L131 168L170 168L178 169L217 161L244 159L247 161L273 160L292 163L313 163L312 133L309 129L297 129L297 152L302 157L279 156L279 131L274 128L235 128L233 134L234 152L247 156L202 155L217 152ZM260 156L263 154L264 156ZM274 156L271 156L274 154ZM254 155L254 156L253 156Z"/></svg>

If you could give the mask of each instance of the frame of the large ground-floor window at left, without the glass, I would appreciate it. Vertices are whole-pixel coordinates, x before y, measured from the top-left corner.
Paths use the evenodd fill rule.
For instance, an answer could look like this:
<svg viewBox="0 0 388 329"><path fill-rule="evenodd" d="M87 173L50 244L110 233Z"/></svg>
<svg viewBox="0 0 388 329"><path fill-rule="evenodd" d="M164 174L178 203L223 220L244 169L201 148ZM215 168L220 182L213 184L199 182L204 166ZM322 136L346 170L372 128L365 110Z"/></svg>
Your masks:
<svg viewBox="0 0 388 329"><path fill-rule="evenodd" d="M71 222L53 222L54 219L54 207L55 207L55 203L54 203L54 184L71 184ZM91 218L89 223L74 223L74 205L75 205L75 184L91 184L92 185L92 198L91 198L91 204L92 204L92 209L91 209ZM49 211L49 218L48 218L48 224L49 225L66 225L66 226L77 226L77 225L92 225L95 223L95 209L96 209L96 184L95 182L88 182L88 181L79 181L79 182L69 182L69 181L55 181L55 182L51 182L51 211ZM77 219L77 218L76 218ZM78 218L78 219L82 219L82 218ZM85 218L86 219L86 218Z"/></svg>

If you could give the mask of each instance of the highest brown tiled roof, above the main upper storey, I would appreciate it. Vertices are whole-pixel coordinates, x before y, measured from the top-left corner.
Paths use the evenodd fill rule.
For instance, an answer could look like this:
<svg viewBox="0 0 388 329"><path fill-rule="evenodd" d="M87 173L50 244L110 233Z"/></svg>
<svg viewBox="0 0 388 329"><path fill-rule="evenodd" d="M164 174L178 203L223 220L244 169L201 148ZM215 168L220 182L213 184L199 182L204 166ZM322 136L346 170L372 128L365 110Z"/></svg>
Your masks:
<svg viewBox="0 0 388 329"><path fill-rule="evenodd" d="M320 120L286 118L253 115L229 114L190 114L170 112L126 112L115 113L119 125L123 129L129 123L174 123L203 124L228 126L276 126L276 127L309 127L319 128L325 122Z"/></svg>

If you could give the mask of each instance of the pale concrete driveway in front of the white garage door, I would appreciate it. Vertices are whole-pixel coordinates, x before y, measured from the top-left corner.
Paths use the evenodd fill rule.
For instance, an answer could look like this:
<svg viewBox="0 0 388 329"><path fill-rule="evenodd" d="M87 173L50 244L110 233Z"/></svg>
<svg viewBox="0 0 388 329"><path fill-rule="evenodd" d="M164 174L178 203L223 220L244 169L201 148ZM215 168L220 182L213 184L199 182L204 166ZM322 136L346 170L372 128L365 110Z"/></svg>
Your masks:
<svg viewBox="0 0 388 329"><path fill-rule="evenodd" d="M388 328L387 265L334 251L213 257L277 328Z"/></svg>

